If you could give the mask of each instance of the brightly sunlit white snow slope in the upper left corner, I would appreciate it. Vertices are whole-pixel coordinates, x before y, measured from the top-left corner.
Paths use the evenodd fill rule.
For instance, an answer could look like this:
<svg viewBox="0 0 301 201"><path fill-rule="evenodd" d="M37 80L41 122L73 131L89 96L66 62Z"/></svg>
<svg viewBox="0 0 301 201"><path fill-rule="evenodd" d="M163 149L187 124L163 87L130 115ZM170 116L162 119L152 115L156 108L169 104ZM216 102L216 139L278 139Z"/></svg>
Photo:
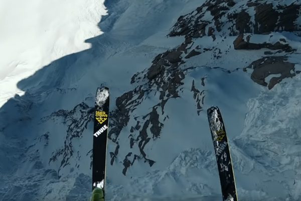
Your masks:
<svg viewBox="0 0 301 201"><path fill-rule="evenodd" d="M0 106L24 94L18 81L50 62L91 47L84 41L102 34L104 0L0 2Z"/></svg>

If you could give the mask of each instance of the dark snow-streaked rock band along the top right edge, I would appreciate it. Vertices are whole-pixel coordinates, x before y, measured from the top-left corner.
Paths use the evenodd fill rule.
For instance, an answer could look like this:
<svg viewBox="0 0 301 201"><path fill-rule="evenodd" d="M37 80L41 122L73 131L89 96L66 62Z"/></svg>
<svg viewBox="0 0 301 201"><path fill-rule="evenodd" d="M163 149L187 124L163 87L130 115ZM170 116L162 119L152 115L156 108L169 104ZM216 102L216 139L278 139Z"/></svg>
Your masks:
<svg viewBox="0 0 301 201"><path fill-rule="evenodd" d="M169 36L185 36L186 38L199 38L205 36L205 30L208 29L207 35L212 34L212 28L221 32L223 27L229 27L229 35L236 36L242 33L264 34L274 31L301 31L301 26L297 22L300 12L300 5L292 3L286 6L285 3L279 2L277 8L272 4L247 3L237 8L232 8L233 1L216 0L206 1L195 11L181 16L175 24ZM255 10L254 20L251 22L250 9ZM207 12L213 17L213 21L207 21ZM224 20L226 16L227 20ZM209 32L210 31L210 32ZM214 35L217 35L215 33Z"/></svg>

